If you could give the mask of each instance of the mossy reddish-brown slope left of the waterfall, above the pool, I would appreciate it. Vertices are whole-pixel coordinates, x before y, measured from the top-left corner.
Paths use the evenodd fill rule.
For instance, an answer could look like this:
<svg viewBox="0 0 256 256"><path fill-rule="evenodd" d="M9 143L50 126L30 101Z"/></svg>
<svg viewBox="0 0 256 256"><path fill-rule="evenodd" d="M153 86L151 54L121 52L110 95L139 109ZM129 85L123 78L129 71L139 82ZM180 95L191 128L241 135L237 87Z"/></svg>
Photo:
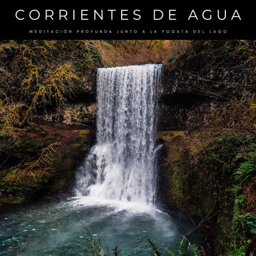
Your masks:
<svg viewBox="0 0 256 256"><path fill-rule="evenodd" d="M43 134L46 130L47 134ZM5 204L9 201L23 203L67 189L77 163L93 142L94 131L60 130L30 123L25 130L24 127L17 129L17 136L18 143L6 148L11 152L10 167L0 170L0 200ZM52 160L38 162L43 148L59 141L61 143L52 151Z"/></svg>

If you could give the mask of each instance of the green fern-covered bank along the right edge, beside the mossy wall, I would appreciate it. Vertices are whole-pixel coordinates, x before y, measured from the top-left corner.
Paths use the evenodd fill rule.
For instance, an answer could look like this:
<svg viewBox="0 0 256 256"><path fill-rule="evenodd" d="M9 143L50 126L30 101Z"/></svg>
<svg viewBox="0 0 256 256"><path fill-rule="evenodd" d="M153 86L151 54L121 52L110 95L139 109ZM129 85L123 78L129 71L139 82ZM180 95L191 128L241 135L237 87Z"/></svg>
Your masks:
<svg viewBox="0 0 256 256"><path fill-rule="evenodd" d="M231 255L236 255L239 251L244 253L249 246L247 241L255 236L256 137L255 133L233 129L225 129L213 135L213 141L205 147L203 163L212 179L214 177L222 182L226 190L224 193L232 192L233 197L229 200L233 199L234 211L230 223L233 225L230 230L230 249L233 250ZM218 189L219 185L216 184L216 193L213 195L221 204L224 199L218 195Z"/></svg>

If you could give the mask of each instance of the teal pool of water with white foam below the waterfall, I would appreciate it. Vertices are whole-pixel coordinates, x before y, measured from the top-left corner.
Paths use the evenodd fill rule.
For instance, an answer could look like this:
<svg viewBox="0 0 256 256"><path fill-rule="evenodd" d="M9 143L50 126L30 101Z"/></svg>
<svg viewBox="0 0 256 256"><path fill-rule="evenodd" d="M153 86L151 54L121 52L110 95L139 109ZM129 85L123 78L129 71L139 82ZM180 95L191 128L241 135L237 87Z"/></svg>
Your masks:
<svg viewBox="0 0 256 256"><path fill-rule="evenodd" d="M192 221L171 217L154 205L93 197L42 201L0 213L0 255L90 255L89 236L101 237L110 253L118 245L122 255L152 255L147 238L162 251L178 251L182 236L195 228ZM200 241L193 236L191 242Z"/></svg>

